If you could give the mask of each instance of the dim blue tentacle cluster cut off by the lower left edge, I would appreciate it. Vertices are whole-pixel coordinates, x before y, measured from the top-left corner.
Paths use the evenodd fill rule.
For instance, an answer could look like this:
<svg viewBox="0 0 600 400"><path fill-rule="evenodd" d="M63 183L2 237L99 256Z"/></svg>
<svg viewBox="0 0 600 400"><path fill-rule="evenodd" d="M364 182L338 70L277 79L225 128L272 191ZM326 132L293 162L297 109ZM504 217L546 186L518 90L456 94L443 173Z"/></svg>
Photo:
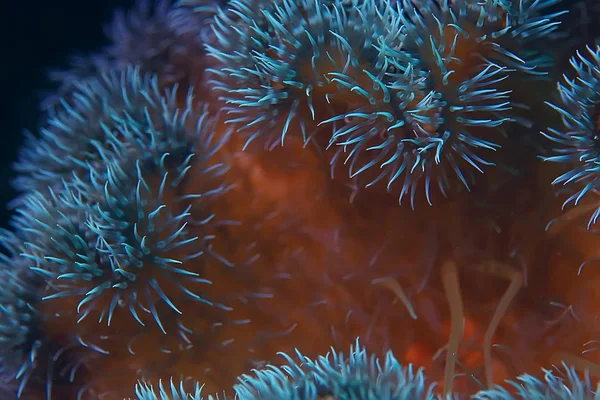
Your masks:
<svg viewBox="0 0 600 400"><path fill-rule="evenodd" d="M20 255L21 235L1 233L0 395L32 400L66 396L70 386L79 382L80 365L71 349L44 333L45 282L29 268L30 260Z"/></svg>

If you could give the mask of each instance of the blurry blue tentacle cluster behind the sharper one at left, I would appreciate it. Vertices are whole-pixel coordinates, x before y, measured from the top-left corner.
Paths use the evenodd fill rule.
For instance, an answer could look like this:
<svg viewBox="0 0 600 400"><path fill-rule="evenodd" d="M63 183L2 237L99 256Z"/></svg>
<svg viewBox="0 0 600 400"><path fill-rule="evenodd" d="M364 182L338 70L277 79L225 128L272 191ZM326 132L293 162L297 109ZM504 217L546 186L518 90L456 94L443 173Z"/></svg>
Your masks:
<svg viewBox="0 0 600 400"><path fill-rule="evenodd" d="M147 135L155 127L180 129L170 126L170 119L179 114L177 87L163 91L156 75L142 74L137 67L105 73L75 87L71 104L61 101L41 136L28 136L15 165L19 173L15 186L20 191L44 191L61 186L63 180L86 180L91 170L105 169L115 151L135 145L141 136L138 131ZM190 105L189 96L184 106ZM181 113L187 115L189 110Z"/></svg>

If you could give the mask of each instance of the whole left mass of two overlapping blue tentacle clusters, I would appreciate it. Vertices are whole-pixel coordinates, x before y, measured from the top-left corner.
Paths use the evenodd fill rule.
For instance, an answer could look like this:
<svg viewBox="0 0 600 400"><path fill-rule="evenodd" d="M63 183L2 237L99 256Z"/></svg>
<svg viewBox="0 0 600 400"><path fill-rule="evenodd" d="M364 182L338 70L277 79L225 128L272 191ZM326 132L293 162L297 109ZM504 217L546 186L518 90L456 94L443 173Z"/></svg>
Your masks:
<svg viewBox="0 0 600 400"><path fill-rule="evenodd" d="M82 85L82 92L86 97L78 97L78 104L95 119L85 119L65 104L63 118L70 125L52 120L61 135L48 132L27 153L29 161L20 164L29 173L22 178L31 182L31 194L17 210L16 228L28 233L26 253L35 270L56 281L47 299L79 296L80 320L93 311L108 324L123 307L143 324L136 311L141 307L164 331L154 303L160 298L180 311L158 276L189 298L210 304L179 279L196 286L209 283L185 265L210 253L212 236L203 227L214 217L200 206L201 194L184 190L183 184L192 160L205 166L200 178L223 173L223 165L205 162L227 136L213 143L212 119L206 107L193 104L191 92L179 109L176 88L163 97L156 76L140 77L135 68L104 75ZM40 166L41 171L34 169ZM33 182L39 186L44 179L54 185L49 195L48 189L32 193ZM218 193L219 188L207 195ZM61 235L53 234L57 228ZM171 258L173 252L180 258ZM146 286L138 272L151 266L155 273L145 273Z"/></svg>

